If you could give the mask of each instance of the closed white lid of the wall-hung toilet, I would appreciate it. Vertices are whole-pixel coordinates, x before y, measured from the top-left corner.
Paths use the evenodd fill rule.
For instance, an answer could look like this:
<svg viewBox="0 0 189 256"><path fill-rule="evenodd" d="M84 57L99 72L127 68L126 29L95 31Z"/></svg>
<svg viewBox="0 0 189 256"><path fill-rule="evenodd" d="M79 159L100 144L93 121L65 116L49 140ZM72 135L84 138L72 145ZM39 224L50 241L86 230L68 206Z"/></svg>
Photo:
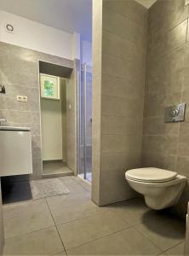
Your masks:
<svg viewBox="0 0 189 256"><path fill-rule="evenodd" d="M125 177L143 182L166 182L175 179L176 172L154 167L133 169L125 172Z"/></svg>

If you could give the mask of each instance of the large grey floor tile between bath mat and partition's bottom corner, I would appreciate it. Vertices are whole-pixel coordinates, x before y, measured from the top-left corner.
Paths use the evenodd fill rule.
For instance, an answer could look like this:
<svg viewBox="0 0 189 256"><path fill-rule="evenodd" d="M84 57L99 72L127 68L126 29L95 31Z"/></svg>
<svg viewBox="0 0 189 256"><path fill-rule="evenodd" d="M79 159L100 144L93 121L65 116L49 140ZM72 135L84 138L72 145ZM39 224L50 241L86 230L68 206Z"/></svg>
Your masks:
<svg viewBox="0 0 189 256"><path fill-rule="evenodd" d="M86 218L99 210L91 200L88 191L72 196L54 196L47 199L56 224L63 224Z"/></svg>

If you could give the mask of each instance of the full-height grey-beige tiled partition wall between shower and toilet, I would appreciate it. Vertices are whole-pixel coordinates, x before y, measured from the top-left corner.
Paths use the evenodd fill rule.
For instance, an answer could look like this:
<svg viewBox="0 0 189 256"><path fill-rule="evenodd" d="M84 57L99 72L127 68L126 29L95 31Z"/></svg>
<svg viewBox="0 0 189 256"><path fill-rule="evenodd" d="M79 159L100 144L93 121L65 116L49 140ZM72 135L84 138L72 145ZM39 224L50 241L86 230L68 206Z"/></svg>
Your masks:
<svg viewBox="0 0 189 256"><path fill-rule="evenodd" d="M94 1L93 181L100 180L94 187L99 205L134 196L124 172L140 166L146 15L134 1Z"/></svg>

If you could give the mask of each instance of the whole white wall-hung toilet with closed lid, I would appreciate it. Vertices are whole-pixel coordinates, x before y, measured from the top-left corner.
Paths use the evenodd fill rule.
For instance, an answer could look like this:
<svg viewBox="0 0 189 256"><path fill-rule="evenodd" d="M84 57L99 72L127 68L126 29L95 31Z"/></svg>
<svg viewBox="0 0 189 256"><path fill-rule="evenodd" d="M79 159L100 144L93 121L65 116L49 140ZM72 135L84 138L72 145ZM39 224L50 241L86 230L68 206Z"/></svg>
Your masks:
<svg viewBox="0 0 189 256"><path fill-rule="evenodd" d="M175 205L185 187L186 177L148 167L125 172L130 187L144 195L146 205L155 210Z"/></svg>

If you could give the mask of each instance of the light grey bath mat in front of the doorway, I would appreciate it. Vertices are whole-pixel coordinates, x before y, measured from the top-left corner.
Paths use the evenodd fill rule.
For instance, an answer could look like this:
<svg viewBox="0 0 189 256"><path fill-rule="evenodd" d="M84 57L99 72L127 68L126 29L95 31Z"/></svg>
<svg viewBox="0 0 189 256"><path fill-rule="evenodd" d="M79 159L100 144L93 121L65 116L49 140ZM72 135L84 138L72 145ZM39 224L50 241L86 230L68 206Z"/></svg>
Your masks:
<svg viewBox="0 0 189 256"><path fill-rule="evenodd" d="M31 194L34 200L50 197L54 195L66 195L70 190L66 188L65 184L58 178L45 178L39 180L32 180Z"/></svg>

